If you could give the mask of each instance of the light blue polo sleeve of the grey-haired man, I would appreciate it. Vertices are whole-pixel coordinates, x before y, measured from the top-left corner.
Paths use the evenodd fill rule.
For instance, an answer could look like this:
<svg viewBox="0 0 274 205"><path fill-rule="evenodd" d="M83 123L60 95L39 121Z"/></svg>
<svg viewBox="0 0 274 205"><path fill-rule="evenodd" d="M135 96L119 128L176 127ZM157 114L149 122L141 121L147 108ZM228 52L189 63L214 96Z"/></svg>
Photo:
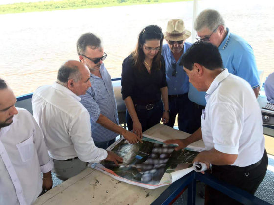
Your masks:
<svg viewBox="0 0 274 205"><path fill-rule="evenodd" d="M234 56L233 66L236 75L245 79L254 89L260 86L259 73L255 61L255 55L252 47L246 45L242 47L242 51L238 51Z"/></svg>

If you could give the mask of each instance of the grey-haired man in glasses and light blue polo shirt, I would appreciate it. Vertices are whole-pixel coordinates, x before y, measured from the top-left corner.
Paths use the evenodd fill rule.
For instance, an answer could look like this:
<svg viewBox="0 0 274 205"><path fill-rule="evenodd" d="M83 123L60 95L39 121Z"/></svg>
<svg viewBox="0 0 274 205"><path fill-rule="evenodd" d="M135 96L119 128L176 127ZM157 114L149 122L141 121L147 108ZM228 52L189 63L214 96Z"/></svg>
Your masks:
<svg viewBox="0 0 274 205"><path fill-rule="evenodd" d="M210 42L217 46L222 57L224 68L229 73L245 79L252 87L256 97L260 91L260 79L252 47L243 38L230 33L225 21L216 10L202 11L195 20L194 29L198 41ZM240 89L240 88L239 88ZM202 109L206 106L206 92L198 92L191 84L189 99L194 102L195 122L193 126L200 127Z"/></svg>

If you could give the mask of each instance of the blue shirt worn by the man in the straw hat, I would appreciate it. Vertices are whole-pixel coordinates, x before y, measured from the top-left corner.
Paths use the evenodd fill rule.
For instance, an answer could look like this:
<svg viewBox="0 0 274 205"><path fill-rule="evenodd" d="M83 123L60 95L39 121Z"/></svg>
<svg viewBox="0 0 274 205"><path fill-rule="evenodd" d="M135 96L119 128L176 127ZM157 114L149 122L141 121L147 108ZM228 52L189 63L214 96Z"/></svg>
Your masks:
<svg viewBox="0 0 274 205"><path fill-rule="evenodd" d="M191 46L191 43L185 42L183 45L183 54ZM166 73L166 82L168 87L168 95L180 95L187 93L189 90L189 81L186 72L183 70L183 66L180 66L179 63L183 57L183 54L180 56L179 60L176 62L173 53L171 52L168 44L164 44L162 48L162 56L165 61L165 73ZM173 66L176 64L176 76L172 76Z"/></svg>

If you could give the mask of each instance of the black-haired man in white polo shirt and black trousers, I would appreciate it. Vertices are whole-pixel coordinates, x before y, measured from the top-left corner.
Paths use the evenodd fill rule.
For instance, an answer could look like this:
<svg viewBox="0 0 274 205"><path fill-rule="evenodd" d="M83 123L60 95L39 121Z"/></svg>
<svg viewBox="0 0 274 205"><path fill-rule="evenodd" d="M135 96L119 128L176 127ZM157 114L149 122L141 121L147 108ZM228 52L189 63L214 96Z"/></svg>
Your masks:
<svg viewBox="0 0 274 205"><path fill-rule="evenodd" d="M204 162L217 179L254 194L268 165L262 117L254 91L248 82L223 69L218 48L196 42L181 61L189 82L206 91L206 108L201 128L184 140L168 140L182 149L203 138L206 150L193 162ZM227 195L206 186L205 204L239 204Z"/></svg>

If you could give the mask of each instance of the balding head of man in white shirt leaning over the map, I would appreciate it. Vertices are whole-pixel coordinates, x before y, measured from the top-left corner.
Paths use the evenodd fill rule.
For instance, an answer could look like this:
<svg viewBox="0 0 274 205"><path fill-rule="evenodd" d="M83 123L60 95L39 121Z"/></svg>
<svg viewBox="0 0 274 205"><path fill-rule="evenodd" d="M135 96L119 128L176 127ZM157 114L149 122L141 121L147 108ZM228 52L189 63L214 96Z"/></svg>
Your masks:
<svg viewBox="0 0 274 205"><path fill-rule="evenodd" d="M76 95L83 95L91 87L90 71L79 61L69 60L58 70L57 82Z"/></svg>

